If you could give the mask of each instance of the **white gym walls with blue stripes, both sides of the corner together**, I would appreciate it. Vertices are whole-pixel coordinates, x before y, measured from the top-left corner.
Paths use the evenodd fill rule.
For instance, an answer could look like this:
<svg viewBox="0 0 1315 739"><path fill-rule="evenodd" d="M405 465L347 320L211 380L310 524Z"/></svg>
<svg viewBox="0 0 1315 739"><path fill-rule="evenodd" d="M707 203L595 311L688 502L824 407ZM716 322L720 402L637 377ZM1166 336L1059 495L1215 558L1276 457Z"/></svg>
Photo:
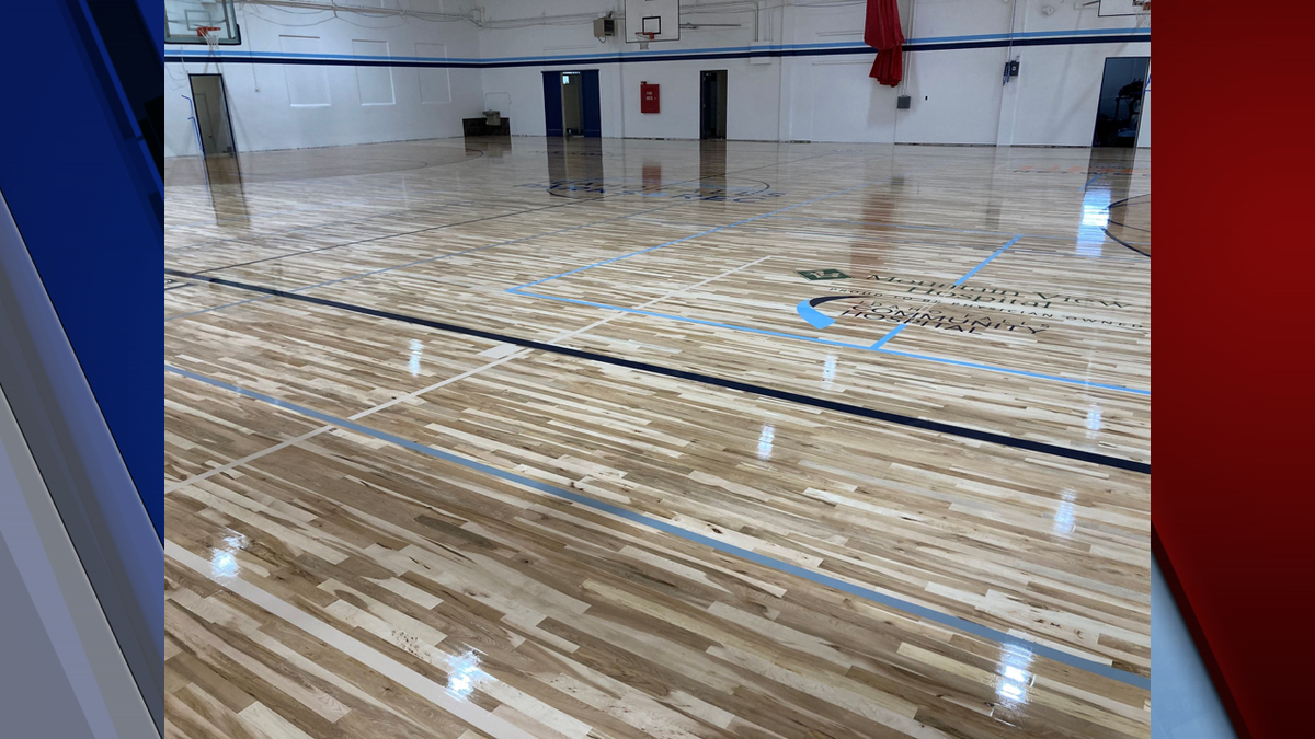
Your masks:
<svg viewBox="0 0 1315 739"><path fill-rule="evenodd" d="M441 57L496 62L526 57L581 58L635 54L638 45L593 37L590 17L618 14L622 0L352 0L469 13L468 21L368 17L360 13L239 5L239 51L302 51ZM651 53L763 45L861 42L865 3L810 7L813 0L743 0L696 9L682 21L734 28L682 29L681 39L652 43ZM1060 0L899 0L910 39L1077 29L1131 28L1131 17L1098 17ZM752 9L760 8L756 16ZM1043 8L1053 8L1045 16ZM562 18L560 16L575 16ZM521 21L518 21L521 20ZM910 21L913 28L910 29ZM518 26L518 28L513 28ZM618 24L623 33L623 24ZM302 37L302 38L293 38ZM316 38L305 38L316 37ZM385 46L387 45L387 46ZM166 54L176 47L167 47ZM196 49L195 46L188 49ZM901 89L868 78L871 54L751 59L613 60L417 70L406 67L246 64L188 62L166 66L166 153L195 154L196 134L181 95L184 72L225 74L238 149L293 149L462 134L462 118L498 108L512 133L542 135L544 70L598 70L602 135L697 138L698 72L727 70L727 134L732 139L882 143L1090 145L1107 57L1148 57L1148 42L1015 46L913 51ZM1002 84L1009 58L1022 71ZM391 80L391 91L389 87ZM661 85L661 113L639 112L640 82ZM389 103L389 92L392 95ZM897 110L896 99L913 99ZM1140 146L1149 146L1149 97Z"/></svg>

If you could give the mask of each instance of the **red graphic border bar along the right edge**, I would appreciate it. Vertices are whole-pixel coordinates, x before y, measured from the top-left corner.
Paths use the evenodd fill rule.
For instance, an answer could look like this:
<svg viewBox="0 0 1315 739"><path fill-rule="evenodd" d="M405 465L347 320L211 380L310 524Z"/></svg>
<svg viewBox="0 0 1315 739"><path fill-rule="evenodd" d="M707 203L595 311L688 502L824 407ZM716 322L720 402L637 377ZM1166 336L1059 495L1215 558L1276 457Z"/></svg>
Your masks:
<svg viewBox="0 0 1315 739"><path fill-rule="evenodd" d="M1156 556L1239 735L1308 736L1315 8L1156 9Z"/></svg>

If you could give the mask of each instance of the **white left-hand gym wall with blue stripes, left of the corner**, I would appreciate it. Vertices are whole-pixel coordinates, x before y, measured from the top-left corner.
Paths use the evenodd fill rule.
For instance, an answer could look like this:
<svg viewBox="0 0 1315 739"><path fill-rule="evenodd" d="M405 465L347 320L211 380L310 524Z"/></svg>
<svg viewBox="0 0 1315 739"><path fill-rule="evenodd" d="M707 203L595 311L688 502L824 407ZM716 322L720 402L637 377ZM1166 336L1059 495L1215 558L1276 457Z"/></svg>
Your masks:
<svg viewBox="0 0 1315 739"><path fill-rule="evenodd" d="M397 7L397 0L383 0ZM368 5L370 0L355 0ZM381 7L381 0L373 0ZM408 0L408 8L467 13L471 3ZM238 5L239 53L313 53L477 58L469 21ZM180 49L166 46L166 55ZM164 68L166 155L197 154L187 74L222 72L238 151L339 146L462 135L462 118L483 108L480 70L305 64L170 63Z"/></svg>

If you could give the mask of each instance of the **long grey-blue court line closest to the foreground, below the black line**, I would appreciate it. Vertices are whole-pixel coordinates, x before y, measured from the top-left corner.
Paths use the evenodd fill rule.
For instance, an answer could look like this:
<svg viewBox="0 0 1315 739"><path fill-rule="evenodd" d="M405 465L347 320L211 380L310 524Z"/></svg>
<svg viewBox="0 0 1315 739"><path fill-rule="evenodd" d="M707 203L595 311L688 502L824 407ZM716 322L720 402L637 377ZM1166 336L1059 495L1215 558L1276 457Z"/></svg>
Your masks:
<svg viewBox="0 0 1315 739"><path fill-rule="evenodd" d="M221 389L225 389L225 391L241 394L243 397L249 397L249 398L252 398L252 400L259 400L262 402L267 402L270 405L274 405L274 406L277 406L277 408L283 408L283 409L291 410L293 413L300 413L301 416L305 416L308 418L314 418L314 419L321 421L323 423L330 423L330 425L338 426L341 429L347 429L347 430L355 431L355 433L366 435L366 437L371 437L371 438L375 438L375 439L379 439L379 441L383 441L383 442L388 442L388 443L392 443L392 444L396 444L396 446L400 446L400 447L404 447L404 448L408 448L408 450L423 454L423 455L434 458L434 459L441 459L443 462L458 464L458 465L464 467L467 469L473 469L476 472L483 472L483 473L489 475L492 477L497 477L497 479L505 480L508 483L513 483L513 484L517 484L517 485L522 485L525 488L539 490L542 493L547 493L547 494L555 496L555 497L562 498L562 500L571 501L573 504L577 504L577 505L581 505L581 506L585 506L585 508L592 508L594 510L598 510L598 512L602 512L602 513L606 513L606 514L610 514L610 515L615 515L617 518L622 518L622 519L626 519L626 521L630 521L630 522L634 522L634 523L639 523L642 526L647 526L650 529L661 531L664 534L671 534L671 535L677 536L680 539L684 539L686 542L692 542L692 543L696 543L696 544L702 544L705 547L709 547L711 550L719 551L722 554L729 554L731 556L735 556L735 558L739 558L739 559L743 559L743 560L747 560L747 561L752 561L753 564L759 564L761 567L767 567L769 569L775 569L775 571L782 572L785 575L793 575L796 577L807 580L810 583L815 583L818 585L823 585L826 588L831 588L831 589L839 590L842 593L848 593L851 596L855 596L855 597L859 597L859 598L863 598L863 600L867 600L867 601L872 601L872 602L880 604L880 605L886 606L886 608L893 609L893 610L903 611L903 613L906 613L909 615L914 615L914 617L924 619L924 621L930 621L930 622L934 622L934 623L940 623L942 626L948 626L951 629L957 629L960 631L965 631L968 634L972 634L972 635L978 636L981 639L985 639L988 642L994 642L997 644L1009 644L1009 646L1013 646L1013 647L1018 647L1018 648L1026 650L1028 652L1032 652L1032 654L1035 654L1038 656L1041 656L1041 657L1045 657L1045 659L1049 659L1049 660L1053 660L1053 661L1057 661L1057 663L1061 663L1061 664L1066 664L1069 667L1074 667L1074 668L1085 671L1085 672L1090 672L1093 675L1099 675L1102 677L1109 677L1111 680L1116 680L1116 681L1123 682L1126 685L1132 685L1135 688L1140 688L1140 689L1144 689L1144 690L1149 690L1151 689L1151 680L1148 677L1143 677L1140 675L1134 675L1131 672L1126 672L1126 671L1118 669L1118 668L1115 668L1112 665L1098 663L1095 660L1084 659L1084 657L1080 657L1077 655L1072 655L1069 652L1065 652L1063 650L1057 650L1057 648L1053 648L1053 647L1047 647L1044 644L1038 644L1038 643L1031 642L1028 639L1014 636L1013 634L1007 634L1007 632L999 631L997 629L990 629L989 626L982 626L980 623L973 623L972 621L968 621L968 619L964 619L964 618L959 618L956 615L944 614L944 613L940 613L939 610L935 610L935 609L931 609L931 608L927 608L927 606L923 606L923 605L918 605L918 604L914 604L914 602L910 602L910 601L906 601L906 600L902 600L902 598L898 598L898 597L894 597L894 596L888 596L888 594L881 593L878 590L874 590L872 588L865 588L863 585L855 585L852 583L847 583L844 580L840 580L840 579L836 579L836 577L831 577L828 575L823 575L823 573L815 572L813 569L806 569L806 568L800 567L797 564L792 564L792 563L782 561L782 560L778 560L778 559L775 559L775 558L769 558L767 555L761 555L761 554L755 552L752 550L746 550L743 547L736 547L735 544L727 544L726 542L722 542L719 539L714 539L711 536L706 536L706 535L698 534L696 531L689 531L689 530L682 529L680 526L675 526L672 523L668 523L667 521L663 521L660 518L654 518L654 517L643 514L643 513L636 513L634 510L622 508L622 506L615 505L615 504L610 504L610 502L606 502L606 501L600 501L600 500L592 498L589 496L580 494L580 493L573 492L573 490L559 488L556 485L550 485L547 483L542 483L539 480L534 480L534 479L526 477L523 475L517 475L514 472L508 472L505 469L500 469L497 467L485 464L483 462L476 462L473 459L468 459L466 456L460 456L460 455L456 455L456 454L452 454L452 452L448 452L448 451L444 451L444 450L434 448L431 446L422 444L422 443L418 443L418 442L413 442L410 439L404 439L402 437L397 437L397 435L389 434L387 431L380 431L377 429L371 429L370 426L363 426L363 425L356 423L354 421L347 421L346 418L338 418L335 416L329 416L327 413L321 413L318 410L312 410L309 408L305 408L305 406L301 406L301 405L297 405L297 404L293 404L293 402L288 402L288 401L284 401L284 400L279 400L276 397L267 396L264 393L259 393L259 392L255 392L255 391L249 391L246 388L239 388L237 385L231 385L231 384L225 383L222 380L214 380L212 377L206 377L205 375L199 375L196 372L189 372L187 370L181 370L179 367L174 367L174 366L170 366L167 363L164 364L164 371L166 372L172 372L175 375L180 375L183 377L188 377L188 379L192 379L192 380L196 380L196 381L200 381L200 383L205 383L208 385L212 385L212 387L216 387L216 388L221 388Z"/></svg>

